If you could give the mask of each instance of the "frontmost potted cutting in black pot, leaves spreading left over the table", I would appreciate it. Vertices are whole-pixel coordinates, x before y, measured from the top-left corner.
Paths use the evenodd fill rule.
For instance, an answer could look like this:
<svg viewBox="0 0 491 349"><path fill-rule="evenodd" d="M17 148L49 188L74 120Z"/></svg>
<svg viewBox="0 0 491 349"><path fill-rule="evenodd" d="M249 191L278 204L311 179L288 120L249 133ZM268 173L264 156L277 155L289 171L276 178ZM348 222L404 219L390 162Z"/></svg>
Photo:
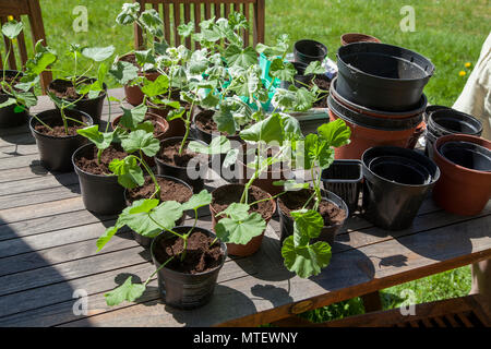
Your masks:
<svg viewBox="0 0 491 349"><path fill-rule="evenodd" d="M97 240L98 251L119 229L128 226L142 236L154 238L151 252L156 272L142 284L133 284L130 276L105 294L108 305L135 301L155 275L159 294L167 305L194 309L211 300L227 257L227 246L212 231L196 227L197 209L211 201L212 195L203 190L183 204L146 198L135 201L121 213L116 225ZM194 212L194 224L176 227L176 220L185 210Z"/></svg>

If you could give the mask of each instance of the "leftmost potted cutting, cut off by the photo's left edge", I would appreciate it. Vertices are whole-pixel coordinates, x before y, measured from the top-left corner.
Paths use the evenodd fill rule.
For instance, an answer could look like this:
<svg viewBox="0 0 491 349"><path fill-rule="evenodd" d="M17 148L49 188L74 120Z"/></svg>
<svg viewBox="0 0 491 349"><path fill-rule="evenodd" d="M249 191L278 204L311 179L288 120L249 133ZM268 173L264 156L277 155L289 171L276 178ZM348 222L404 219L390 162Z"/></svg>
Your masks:
<svg viewBox="0 0 491 349"><path fill-rule="evenodd" d="M24 29L22 22L14 20L2 25L2 34L10 39L2 67L7 67L12 51L12 40ZM27 121L31 107L37 104L37 97L33 93L34 86L39 82L39 74L56 61L57 57L49 49L37 41L34 57L27 60L25 71L0 71L0 128L21 125Z"/></svg>

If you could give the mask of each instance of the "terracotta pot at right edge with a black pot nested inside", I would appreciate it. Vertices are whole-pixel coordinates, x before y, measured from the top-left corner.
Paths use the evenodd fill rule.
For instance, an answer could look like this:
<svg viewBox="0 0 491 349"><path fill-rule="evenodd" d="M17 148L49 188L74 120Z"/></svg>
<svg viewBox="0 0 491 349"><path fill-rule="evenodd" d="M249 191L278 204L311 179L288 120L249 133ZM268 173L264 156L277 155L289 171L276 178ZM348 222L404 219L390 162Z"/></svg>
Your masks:
<svg viewBox="0 0 491 349"><path fill-rule="evenodd" d="M464 141L491 149L491 142L465 134L441 136L433 145L433 160L442 172L433 189L433 200L443 209L463 216L479 214L491 197L491 172L478 171L456 165L440 153L447 142Z"/></svg>

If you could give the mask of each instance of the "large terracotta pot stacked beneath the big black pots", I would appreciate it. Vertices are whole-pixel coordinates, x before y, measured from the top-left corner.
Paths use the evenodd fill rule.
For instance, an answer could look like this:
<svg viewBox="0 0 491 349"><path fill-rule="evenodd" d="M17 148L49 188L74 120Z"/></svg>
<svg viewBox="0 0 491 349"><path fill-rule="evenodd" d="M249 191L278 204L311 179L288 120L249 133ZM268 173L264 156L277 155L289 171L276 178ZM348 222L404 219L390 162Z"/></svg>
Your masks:
<svg viewBox="0 0 491 349"><path fill-rule="evenodd" d="M372 146L393 145L410 148L422 132L422 115L408 119L376 119L357 115L339 105L335 109L331 96L328 104L331 121L340 118L351 129L351 142L335 148L336 159L361 159L363 152ZM358 120L354 120L358 117L360 117ZM362 118L372 124L361 124Z"/></svg>

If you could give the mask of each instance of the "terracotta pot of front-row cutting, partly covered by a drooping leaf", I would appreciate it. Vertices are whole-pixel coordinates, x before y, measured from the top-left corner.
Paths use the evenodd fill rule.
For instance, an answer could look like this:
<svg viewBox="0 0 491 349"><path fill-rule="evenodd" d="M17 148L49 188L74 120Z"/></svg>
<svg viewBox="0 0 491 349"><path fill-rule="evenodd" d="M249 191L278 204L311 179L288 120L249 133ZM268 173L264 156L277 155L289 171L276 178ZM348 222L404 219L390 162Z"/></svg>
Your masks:
<svg viewBox="0 0 491 349"><path fill-rule="evenodd" d="M261 188L259 188L259 189L261 189ZM217 191L223 191L223 190L226 190L229 192L235 192L235 193L237 193L237 192L242 193L243 185L242 184L221 185L212 192L212 196L214 194L216 194ZM273 209L271 212L271 215L268 215L268 217L265 219L266 226L276 212L276 202L273 200L273 197L270 194L268 194L268 196L270 196L270 202L273 205ZM212 229L213 229L213 231L215 231L216 222L218 220L220 220L220 218L218 218L218 219L216 218L216 215L218 213L215 210L215 208L213 208L212 204L209 204L209 212L212 213ZM261 243L263 242L264 231L262 234L252 238L251 241L249 241L247 244L227 243L228 254L237 255L237 256L248 256L248 255L254 254L260 249Z"/></svg>

